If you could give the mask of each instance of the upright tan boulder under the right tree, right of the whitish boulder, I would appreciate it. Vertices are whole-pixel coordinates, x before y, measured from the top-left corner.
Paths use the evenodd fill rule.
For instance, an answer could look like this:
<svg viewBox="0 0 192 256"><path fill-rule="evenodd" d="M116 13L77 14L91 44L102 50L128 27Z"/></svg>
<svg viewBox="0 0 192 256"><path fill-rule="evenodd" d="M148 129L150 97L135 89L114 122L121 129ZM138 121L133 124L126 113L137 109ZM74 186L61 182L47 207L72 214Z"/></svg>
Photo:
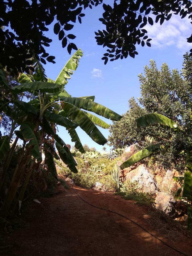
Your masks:
<svg viewBox="0 0 192 256"><path fill-rule="evenodd" d="M176 170L167 170L163 181L162 181L162 190L164 192L173 192L176 191L179 184L177 184L173 177L179 177L179 173Z"/></svg>

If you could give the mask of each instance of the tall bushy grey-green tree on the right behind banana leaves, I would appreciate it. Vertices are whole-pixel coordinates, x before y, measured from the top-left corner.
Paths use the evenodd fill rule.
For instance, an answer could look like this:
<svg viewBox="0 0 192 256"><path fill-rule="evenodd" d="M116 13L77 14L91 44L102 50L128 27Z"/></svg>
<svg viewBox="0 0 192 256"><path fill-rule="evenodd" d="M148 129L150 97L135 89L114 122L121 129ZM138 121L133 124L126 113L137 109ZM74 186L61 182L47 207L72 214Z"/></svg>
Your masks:
<svg viewBox="0 0 192 256"><path fill-rule="evenodd" d="M185 155L181 152L187 150L192 141L191 59L188 53L184 55L182 74L176 69L170 71L166 63L158 70L153 60L150 66L144 67L144 74L139 74L141 97L138 98L143 108L134 98L129 100L129 110L121 120L110 126L108 141L111 146L118 148L138 143L145 148L163 141L164 149L169 150L160 153L158 161L165 168L175 166L178 170L184 170ZM160 124L140 127L136 119L147 113L165 115L177 123L183 132L175 134L173 129Z"/></svg>

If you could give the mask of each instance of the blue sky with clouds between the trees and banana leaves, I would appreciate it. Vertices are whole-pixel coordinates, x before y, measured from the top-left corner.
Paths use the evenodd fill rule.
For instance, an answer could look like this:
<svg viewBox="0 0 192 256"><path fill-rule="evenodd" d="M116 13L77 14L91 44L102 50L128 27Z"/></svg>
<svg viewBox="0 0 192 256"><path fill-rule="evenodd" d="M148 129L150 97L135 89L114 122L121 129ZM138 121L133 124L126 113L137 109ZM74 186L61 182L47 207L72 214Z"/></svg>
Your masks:
<svg viewBox="0 0 192 256"><path fill-rule="evenodd" d="M111 1L105 1L105 3L111 3ZM65 89L75 97L95 95L96 102L119 114L128 110L128 100L132 96L135 98L140 96L138 74L143 72L143 67L149 64L150 59L154 59L158 67L163 62L166 62L170 69L176 68L180 70L182 68L183 54L191 48L191 45L186 40L191 34L190 20L187 18L181 20L180 16L174 15L168 22L164 22L162 26L160 24L146 26L148 36L152 38L151 47L136 46L139 55L136 55L135 59L128 57L123 60L109 61L107 65L104 65L104 61L101 58L106 49L98 46L94 38L94 31L104 29L104 25L98 20L102 17L102 5L94 7L92 10L87 8L84 13L85 17L82 18L82 24L75 23L73 30L68 33L77 36L71 42L81 48L84 55L80 59L78 69ZM56 57L56 64L48 63L45 65L45 69L48 77L55 79L70 58L70 55L66 48L62 48L58 36L53 34L52 27L50 27L46 35L53 39L48 52ZM111 123L105 118L102 119ZM58 128L59 136L65 143L73 145L74 143L71 142L71 138L65 128L60 126ZM99 129L107 138L109 135L108 130ZM80 128L77 128L77 133L82 144L86 143L89 146L94 146L97 150L102 149L101 145L92 141Z"/></svg>

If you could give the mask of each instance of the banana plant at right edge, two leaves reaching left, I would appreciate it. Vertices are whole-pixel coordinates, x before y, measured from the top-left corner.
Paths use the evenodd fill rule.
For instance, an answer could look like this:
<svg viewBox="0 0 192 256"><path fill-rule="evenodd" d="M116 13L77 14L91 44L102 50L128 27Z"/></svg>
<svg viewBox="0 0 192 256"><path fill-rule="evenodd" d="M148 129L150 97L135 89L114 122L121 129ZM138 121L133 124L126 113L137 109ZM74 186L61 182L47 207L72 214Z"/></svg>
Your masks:
<svg viewBox="0 0 192 256"><path fill-rule="evenodd" d="M192 115L191 115L192 120ZM137 120L137 124L140 127L147 127L148 125L164 125L166 127L169 127L172 129L175 133L183 133L183 130L179 127L179 125L171 120L170 118L160 115L158 113L148 113L145 115L142 115ZM185 135L185 134L184 134ZM188 229L192 229L192 143L189 141L188 138L186 138L189 144L189 148L184 149L186 154L186 160L185 160L185 172L184 172L184 183L183 183L183 197L187 197L188 199ZM162 149L162 142L153 144L145 149L140 150L133 156L131 156L127 161L125 161L123 164L121 164L120 168L124 169L127 168L134 163L140 161L141 159L151 155L156 154L159 149Z"/></svg>

